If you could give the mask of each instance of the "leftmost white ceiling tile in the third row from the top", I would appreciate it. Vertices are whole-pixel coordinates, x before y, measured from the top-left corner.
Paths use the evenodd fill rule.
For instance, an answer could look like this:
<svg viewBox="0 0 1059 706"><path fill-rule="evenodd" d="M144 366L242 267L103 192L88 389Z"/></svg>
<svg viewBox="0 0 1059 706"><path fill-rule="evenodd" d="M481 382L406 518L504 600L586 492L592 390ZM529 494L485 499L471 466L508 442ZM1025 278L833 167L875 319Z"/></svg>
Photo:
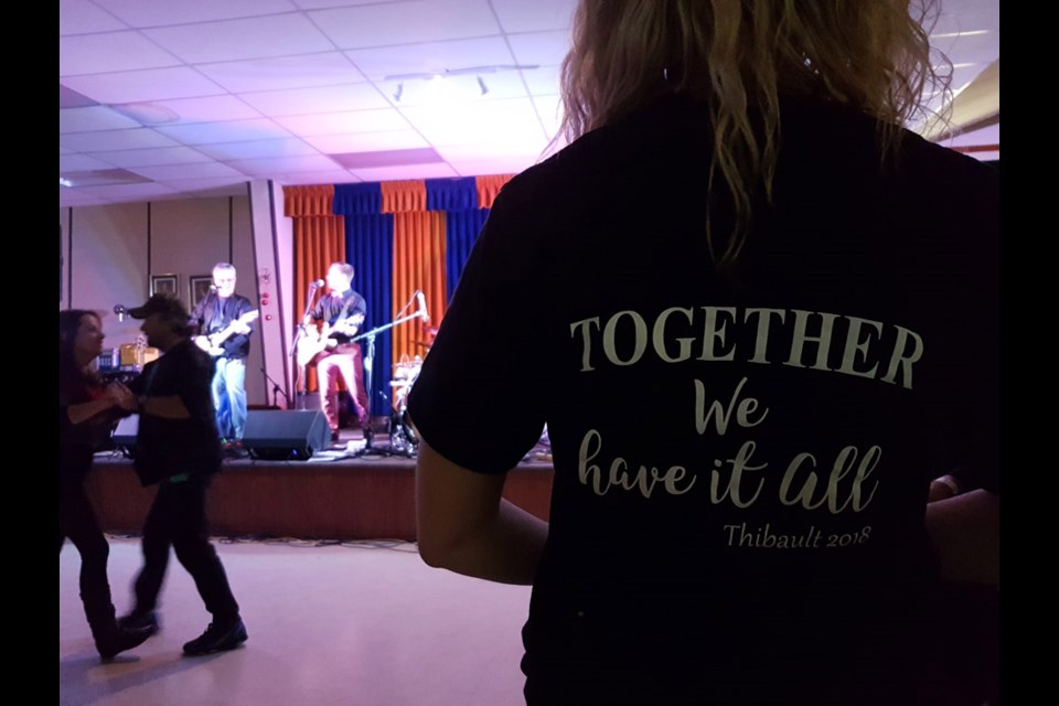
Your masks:
<svg viewBox="0 0 1059 706"><path fill-rule="evenodd" d="M63 83L99 103L138 103L168 98L215 96L224 90L193 68L148 68L145 71L69 76Z"/></svg>

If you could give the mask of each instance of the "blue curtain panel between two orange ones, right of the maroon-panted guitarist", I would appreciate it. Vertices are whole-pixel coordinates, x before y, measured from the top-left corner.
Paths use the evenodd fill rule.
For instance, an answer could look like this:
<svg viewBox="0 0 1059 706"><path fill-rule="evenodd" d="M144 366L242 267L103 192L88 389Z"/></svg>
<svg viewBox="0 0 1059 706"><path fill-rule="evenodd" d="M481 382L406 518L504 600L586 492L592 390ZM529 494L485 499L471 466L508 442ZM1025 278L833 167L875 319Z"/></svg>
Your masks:
<svg viewBox="0 0 1059 706"><path fill-rule="evenodd" d="M362 186L362 184L349 184ZM363 184L363 186L377 184ZM338 202L338 188L335 201ZM394 310L394 216L389 213L346 213L345 259L354 269L353 289L367 300L367 317L364 331L371 331L391 322ZM338 211L338 208L335 208ZM370 361L368 340L361 341L364 356L364 385L367 387L371 413L374 416L391 414L391 387L393 377L392 329L375 336L374 357Z"/></svg>

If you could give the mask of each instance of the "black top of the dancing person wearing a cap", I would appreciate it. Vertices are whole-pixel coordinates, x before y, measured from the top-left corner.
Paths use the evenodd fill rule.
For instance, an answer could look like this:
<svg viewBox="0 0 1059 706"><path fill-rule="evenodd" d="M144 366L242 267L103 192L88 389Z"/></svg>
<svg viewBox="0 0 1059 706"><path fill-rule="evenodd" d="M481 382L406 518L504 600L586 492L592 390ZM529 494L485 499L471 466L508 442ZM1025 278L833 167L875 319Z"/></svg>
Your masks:
<svg viewBox="0 0 1059 706"><path fill-rule="evenodd" d="M145 365L130 384L137 395L176 395L191 413L188 419L140 415L135 461L145 485L221 469L221 438L210 393L213 373L213 359L188 339Z"/></svg>

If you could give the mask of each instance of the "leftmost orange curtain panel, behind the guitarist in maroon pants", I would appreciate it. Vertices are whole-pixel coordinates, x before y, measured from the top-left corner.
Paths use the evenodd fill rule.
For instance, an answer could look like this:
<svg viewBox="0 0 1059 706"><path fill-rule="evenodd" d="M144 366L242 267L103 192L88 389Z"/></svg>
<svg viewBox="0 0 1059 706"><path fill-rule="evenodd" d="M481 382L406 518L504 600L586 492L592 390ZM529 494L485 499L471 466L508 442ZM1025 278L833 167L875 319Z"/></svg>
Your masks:
<svg viewBox="0 0 1059 706"><path fill-rule="evenodd" d="M309 282L328 274L331 263L345 261L345 218L331 215L334 186L284 186L284 213L295 235L295 321L301 322ZM319 291L323 291L320 289ZM306 391L317 389L317 371L306 371Z"/></svg>

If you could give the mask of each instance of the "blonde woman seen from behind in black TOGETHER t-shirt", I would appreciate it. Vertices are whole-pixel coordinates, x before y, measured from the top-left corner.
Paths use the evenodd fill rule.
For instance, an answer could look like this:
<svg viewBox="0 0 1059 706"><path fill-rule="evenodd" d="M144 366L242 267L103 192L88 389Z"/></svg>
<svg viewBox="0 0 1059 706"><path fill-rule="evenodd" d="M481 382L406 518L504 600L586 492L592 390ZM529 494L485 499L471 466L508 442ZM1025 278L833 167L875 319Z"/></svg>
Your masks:
<svg viewBox="0 0 1059 706"><path fill-rule="evenodd" d="M528 704L986 699L928 528L997 502L998 181L905 127L924 4L578 3L570 145L408 407L424 560L533 585ZM545 424L549 522L502 498Z"/></svg>

